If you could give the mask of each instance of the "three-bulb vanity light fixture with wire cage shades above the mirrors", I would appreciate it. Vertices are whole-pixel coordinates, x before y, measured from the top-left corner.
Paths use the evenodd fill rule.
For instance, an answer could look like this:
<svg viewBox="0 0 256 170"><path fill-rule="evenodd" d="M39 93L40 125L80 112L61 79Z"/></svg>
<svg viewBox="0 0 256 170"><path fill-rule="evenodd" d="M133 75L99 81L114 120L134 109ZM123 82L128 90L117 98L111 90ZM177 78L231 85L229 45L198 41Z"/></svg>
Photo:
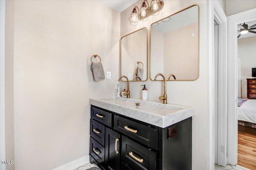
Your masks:
<svg viewBox="0 0 256 170"><path fill-rule="evenodd" d="M151 0L150 6L148 5L148 1L144 0L140 7L140 10L137 6L134 7L132 13L130 15L129 21L131 25L138 25L139 21L148 20L149 16L156 16L160 13L164 6L164 2L162 0ZM137 9L138 12L137 12Z"/></svg>

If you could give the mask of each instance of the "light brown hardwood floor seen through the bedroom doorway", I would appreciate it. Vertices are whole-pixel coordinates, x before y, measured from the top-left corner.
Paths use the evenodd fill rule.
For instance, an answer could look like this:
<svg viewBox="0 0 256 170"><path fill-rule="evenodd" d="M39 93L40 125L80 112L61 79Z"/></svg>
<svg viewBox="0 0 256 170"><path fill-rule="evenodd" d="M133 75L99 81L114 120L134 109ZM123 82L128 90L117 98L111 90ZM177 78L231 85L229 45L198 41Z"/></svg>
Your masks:
<svg viewBox="0 0 256 170"><path fill-rule="evenodd" d="M238 130L238 165L256 170L256 134Z"/></svg>

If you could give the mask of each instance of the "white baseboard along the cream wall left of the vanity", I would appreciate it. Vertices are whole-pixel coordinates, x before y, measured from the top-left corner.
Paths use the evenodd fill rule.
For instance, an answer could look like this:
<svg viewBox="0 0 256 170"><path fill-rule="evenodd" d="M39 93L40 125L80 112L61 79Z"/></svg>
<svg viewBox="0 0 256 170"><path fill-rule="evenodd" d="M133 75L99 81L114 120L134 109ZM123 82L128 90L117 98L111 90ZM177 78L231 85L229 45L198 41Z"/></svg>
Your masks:
<svg viewBox="0 0 256 170"><path fill-rule="evenodd" d="M75 168L78 168L79 166L82 166L84 164L88 164L89 162L90 162L90 158L89 158L89 155L87 155L87 156L78 158L76 160L73 160L71 162L68 162L52 170L74 170Z"/></svg>

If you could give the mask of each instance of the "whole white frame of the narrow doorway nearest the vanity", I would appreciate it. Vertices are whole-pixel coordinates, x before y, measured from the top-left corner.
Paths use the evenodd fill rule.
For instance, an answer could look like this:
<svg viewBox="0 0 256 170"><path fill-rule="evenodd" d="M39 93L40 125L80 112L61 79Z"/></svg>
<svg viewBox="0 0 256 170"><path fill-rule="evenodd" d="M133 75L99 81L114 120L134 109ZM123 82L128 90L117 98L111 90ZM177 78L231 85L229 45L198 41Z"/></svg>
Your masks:
<svg viewBox="0 0 256 170"><path fill-rule="evenodd" d="M214 170L214 143L215 143L215 110L214 110L214 20L220 25L219 26L219 43L221 46L219 50L219 56L220 56L220 69L223 70L223 72L220 74L219 80L221 83L221 86L219 87L219 94L220 100L223 101L223 103L220 105L220 112L221 117L220 120L220 131L224 133L218 133L218 139L221 142L220 146L226 146L226 96L227 96L227 18L226 14L224 13L222 7L220 6L218 1L207 1L207 25L208 25L208 34L207 34L207 40L208 40L208 95L209 95L209 102L208 102L208 109L209 109L209 116L208 116L208 124L209 124L209 130L208 130L208 154L210 155L209 160L207 162L207 169ZM220 149L219 149L220 150ZM220 164L223 164L226 166L226 147L223 154L220 154L220 159L224 160L223 162L220 162ZM222 158L223 157L223 158Z"/></svg>

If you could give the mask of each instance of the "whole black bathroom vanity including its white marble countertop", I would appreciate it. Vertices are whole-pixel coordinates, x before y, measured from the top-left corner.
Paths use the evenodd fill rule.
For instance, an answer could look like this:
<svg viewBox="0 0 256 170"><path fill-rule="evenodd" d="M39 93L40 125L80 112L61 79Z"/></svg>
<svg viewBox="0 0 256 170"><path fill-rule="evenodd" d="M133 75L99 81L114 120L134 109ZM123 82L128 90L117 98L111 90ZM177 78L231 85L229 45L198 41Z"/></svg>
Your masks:
<svg viewBox="0 0 256 170"><path fill-rule="evenodd" d="M120 97L90 104L90 162L103 170L191 170L194 107Z"/></svg>

